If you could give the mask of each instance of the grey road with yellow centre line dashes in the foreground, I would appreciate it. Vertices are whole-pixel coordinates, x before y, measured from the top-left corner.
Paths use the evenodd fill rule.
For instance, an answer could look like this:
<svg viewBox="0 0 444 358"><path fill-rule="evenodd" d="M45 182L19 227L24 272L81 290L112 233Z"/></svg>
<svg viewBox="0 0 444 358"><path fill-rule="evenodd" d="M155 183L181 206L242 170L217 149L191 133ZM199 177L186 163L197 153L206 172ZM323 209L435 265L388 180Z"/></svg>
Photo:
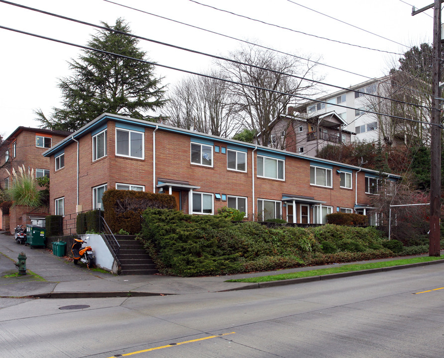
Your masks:
<svg viewBox="0 0 444 358"><path fill-rule="evenodd" d="M17 300L0 310L0 357L442 358L443 303L442 265L233 292ZM61 309L70 305L89 307Z"/></svg>

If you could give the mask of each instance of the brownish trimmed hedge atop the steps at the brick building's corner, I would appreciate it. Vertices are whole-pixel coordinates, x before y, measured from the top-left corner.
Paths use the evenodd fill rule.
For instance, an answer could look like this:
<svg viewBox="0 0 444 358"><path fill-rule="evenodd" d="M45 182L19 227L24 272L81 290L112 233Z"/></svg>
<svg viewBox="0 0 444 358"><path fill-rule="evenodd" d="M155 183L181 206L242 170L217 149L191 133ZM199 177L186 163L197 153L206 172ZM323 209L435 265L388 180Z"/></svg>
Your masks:
<svg viewBox="0 0 444 358"><path fill-rule="evenodd" d="M147 208L174 209L173 195L145 191L108 189L102 197L105 220L113 233L123 229L130 234L141 230L141 214Z"/></svg>

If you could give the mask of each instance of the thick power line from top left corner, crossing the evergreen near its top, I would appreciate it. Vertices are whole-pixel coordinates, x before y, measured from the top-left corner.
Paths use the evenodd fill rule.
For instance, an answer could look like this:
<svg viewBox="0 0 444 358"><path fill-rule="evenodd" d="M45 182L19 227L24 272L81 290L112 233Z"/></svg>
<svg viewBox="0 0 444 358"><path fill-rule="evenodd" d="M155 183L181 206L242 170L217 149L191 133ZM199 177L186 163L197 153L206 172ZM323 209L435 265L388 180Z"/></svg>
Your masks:
<svg viewBox="0 0 444 358"><path fill-rule="evenodd" d="M21 5L21 4L17 4L17 3L6 1L6 0L0 0L0 2L4 2L4 3L10 4L10 5L13 5L13 6L25 8L25 9L32 10L32 11L36 11L36 12L43 13L43 14L46 14L46 15L58 17L58 18L61 18L61 19L64 19L64 20L81 23L81 24L88 25L88 26L91 26L91 27L96 27L96 28L99 28L99 29L112 31L114 33L130 36L130 37L133 37L133 38L137 38L137 39L140 39L140 40L145 40L145 41L156 43L156 44L159 44L159 45L172 47L172 48L175 48L175 49L178 49L178 50L183 50L183 51L195 53L195 54L198 54L198 55L212 57L212 58L215 58L215 59L218 59L218 60L223 60L223 61L227 61L227 62L238 64L238 65L242 65L242 66L249 66L249 67L252 67L252 68L259 69L259 70L270 71L270 72L273 72L273 73L276 73L276 74L279 74L279 75L284 75L284 76L289 76L289 77L297 78L297 79L308 81L308 82L312 82L312 83L315 83L315 84L318 84L318 85L329 86L329 87L333 87L333 88L336 88L336 89L343 89L343 90L347 90L347 91L349 90L349 89L347 89L345 87L336 86L336 85L332 85L332 84L328 84L328 83L325 83L325 82L316 81L316 80L312 80L312 79L307 79L305 77L301 77L301 76L297 76L297 75L292 75L292 74L284 73L284 72L281 72L281 71L272 70L272 69L268 69L268 68L264 68L264 67L260 67L260 66L256 66L256 65L252 65L252 64L248 64L248 63L245 63L245 62L233 60L233 59L228 59L228 58L225 58L225 57L222 57L222 56L212 55L212 54L208 54L208 53L205 53L205 52L201 52L201 51L197 51L197 50L192 50L192 49L188 49L188 48L177 46L177 45L172 45L172 44L169 44L169 43L166 43L166 42L161 42L161 41L149 39L147 37L142 37L142 36L134 35L132 33L127 33L127 32L123 32L123 31L111 29L111 28L106 27L106 26L96 25L96 24L93 24L93 23L90 23L90 22L86 22L86 21L82 21L82 20L77 20L77 19L74 19L74 18L71 18L71 17L67 17L67 16L63 16L63 15L58 15L56 13L40 10L40 9L37 9L37 8L34 8L34 7L29 7L29 6ZM391 99L391 98L387 98L387 97L384 97L384 96L381 96L381 95L377 95L377 94L373 94L373 93L367 93L367 94L370 95L370 96L373 96L373 97L382 98L382 99L389 99L389 100L392 100L392 101L395 101L395 102L398 102L398 103L402 103L402 104L415 105L417 107L422 107L422 108L430 109L430 107L426 107L426 106L423 106L423 105L409 103L409 102L405 102L405 101L401 101L401 100L397 100L397 99Z"/></svg>

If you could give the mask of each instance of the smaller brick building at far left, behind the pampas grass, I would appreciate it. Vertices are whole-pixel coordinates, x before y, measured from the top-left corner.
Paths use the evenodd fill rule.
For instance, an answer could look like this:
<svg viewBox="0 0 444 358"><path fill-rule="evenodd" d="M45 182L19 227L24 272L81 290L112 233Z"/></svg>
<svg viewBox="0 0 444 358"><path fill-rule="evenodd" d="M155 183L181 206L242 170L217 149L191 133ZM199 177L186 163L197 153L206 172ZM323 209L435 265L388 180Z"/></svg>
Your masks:
<svg viewBox="0 0 444 358"><path fill-rule="evenodd" d="M12 168L17 171L18 167L23 165L26 171L33 170L36 178L49 177L50 161L49 158L43 157L42 153L69 134L71 132L40 128L18 127L15 129L0 145L0 188L7 189L11 186ZM0 228L13 232L16 225L30 223L30 218L43 219L47 214L47 207L36 210L28 207L12 207L6 215L3 215L0 210Z"/></svg>

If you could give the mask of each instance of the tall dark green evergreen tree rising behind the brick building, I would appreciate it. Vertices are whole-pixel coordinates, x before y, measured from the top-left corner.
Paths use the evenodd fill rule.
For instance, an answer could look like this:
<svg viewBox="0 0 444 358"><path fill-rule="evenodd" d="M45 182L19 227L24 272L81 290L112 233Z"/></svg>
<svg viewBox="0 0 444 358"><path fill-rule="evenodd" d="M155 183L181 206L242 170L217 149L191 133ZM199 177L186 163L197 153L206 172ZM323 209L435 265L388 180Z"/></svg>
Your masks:
<svg viewBox="0 0 444 358"><path fill-rule="evenodd" d="M114 26L102 24L130 33L121 18ZM98 31L88 42L94 49L143 60L146 53L137 44L138 39L110 30ZM58 85L62 107L54 107L50 118L41 109L35 111L43 128L77 130L104 112L152 120L147 112L165 103L162 79L154 77L153 65L93 50L83 50L69 65L74 74Z"/></svg>

